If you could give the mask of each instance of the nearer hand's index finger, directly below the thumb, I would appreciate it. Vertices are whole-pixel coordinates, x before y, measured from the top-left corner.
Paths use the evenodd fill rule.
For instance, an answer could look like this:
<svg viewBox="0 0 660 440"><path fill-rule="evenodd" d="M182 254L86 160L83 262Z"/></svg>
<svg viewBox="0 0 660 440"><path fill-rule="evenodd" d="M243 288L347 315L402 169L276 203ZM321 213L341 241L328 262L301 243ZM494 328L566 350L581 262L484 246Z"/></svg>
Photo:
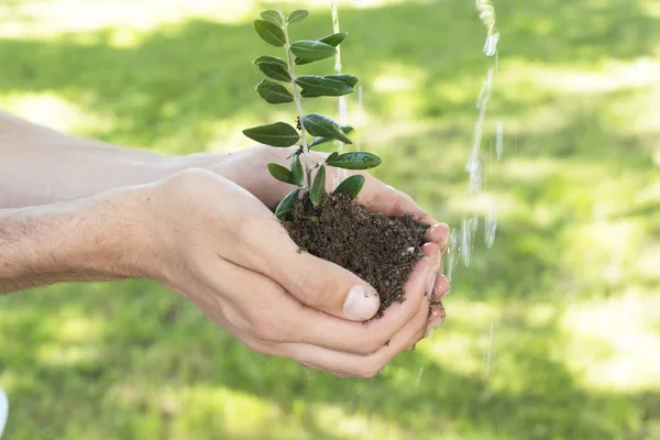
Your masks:
<svg viewBox="0 0 660 440"><path fill-rule="evenodd" d="M231 263L223 263L231 264ZM223 286L240 316L227 317L242 331L264 341L308 343L331 350L367 355L377 352L404 328L419 309L428 314L427 276L435 268L430 258L417 264L405 285L406 300L393 305L383 318L364 324L304 307L273 279L244 267L212 271L208 285ZM213 295L209 293L207 296ZM427 298L422 302L424 298ZM224 307L224 315L230 315Z"/></svg>

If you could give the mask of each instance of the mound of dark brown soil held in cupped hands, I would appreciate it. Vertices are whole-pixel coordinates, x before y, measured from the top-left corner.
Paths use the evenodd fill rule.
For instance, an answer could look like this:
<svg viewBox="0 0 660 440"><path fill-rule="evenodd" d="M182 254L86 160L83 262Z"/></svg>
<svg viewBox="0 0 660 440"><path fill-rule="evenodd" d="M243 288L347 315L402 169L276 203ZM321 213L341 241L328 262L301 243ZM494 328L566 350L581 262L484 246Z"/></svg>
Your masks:
<svg viewBox="0 0 660 440"><path fill-rule="evenodd" d="M365 282L381 296L378 317L404 300L404 285L424 254L427 226L410 216L387 218L351 202L345 195L326 195L315 207L309 197L298 201L283 221L301 250L336 263Z"/></svg>

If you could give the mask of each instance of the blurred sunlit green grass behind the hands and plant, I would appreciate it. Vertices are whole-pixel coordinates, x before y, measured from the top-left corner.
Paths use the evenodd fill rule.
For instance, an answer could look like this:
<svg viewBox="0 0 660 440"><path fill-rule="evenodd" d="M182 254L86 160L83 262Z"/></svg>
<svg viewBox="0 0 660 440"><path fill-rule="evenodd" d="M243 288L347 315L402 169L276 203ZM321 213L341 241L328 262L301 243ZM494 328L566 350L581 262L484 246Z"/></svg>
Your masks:
<svg viewBox="0 0 660 440"><path fill-rule="evenodd" d="M251 20L277 6L312 11L294 37L331 33L324 0L0 1L0 107L164 153L246 147L241 129L292 114L253 89L251 61L276 51ZM504 158L476 202L494 59L474 1L340 6L377 176L454 227L497 206L446 324L378 377L338 380L251 353L152 283L10 295L7 439L660 439L660 1L495 3L484 147L502 121Z"/></svg>

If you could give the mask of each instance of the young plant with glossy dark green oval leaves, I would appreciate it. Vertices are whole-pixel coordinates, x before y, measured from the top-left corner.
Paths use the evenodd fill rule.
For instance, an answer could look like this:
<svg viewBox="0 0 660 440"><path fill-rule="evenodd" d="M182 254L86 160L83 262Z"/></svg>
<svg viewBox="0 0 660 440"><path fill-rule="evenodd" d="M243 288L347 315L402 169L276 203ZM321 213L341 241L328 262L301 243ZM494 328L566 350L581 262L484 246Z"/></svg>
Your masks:
<svg viewBox="0 0 660 440"><path fill-rule="evenodd" d="M375 154L337 152L320 163L310 164L309 151L318 145L337 140L352 144L346 135L353 129L340 127L330 118L318 113L305 113L302 99L320 97L340 97L354 92L358 78L352 75L301 75L296 76L296 66L319 62L333 57L337 47L344 41L344 32L324 36L319 40L300 40L294 43L289 37L289 25L299 23L309 12L297 10L288 16L277 10L262 12L262 20L254 21L254 30L266 43L283 47L286 57L263 55L254 61L258 69L268 78L256 86L258 95L271 105L294 103L297 110L296 127L286 122L254 127L243 131L253 141L274 147L298 145L293 154L290 169L279 164L268 164L271 175L277 180L295 185L277 206L277 218L286 218L294 209L300 194L308 194L311 202L319 206L326 194L326 167L344 169L369 169L381 165ZM290 87L290 88L289 88ZM314 138L314 139L311 139ZM312 179L312 172L318 169ZM355 175L343 180L334 194L346 194L353 200L364 186L364 176Z"/></svg>

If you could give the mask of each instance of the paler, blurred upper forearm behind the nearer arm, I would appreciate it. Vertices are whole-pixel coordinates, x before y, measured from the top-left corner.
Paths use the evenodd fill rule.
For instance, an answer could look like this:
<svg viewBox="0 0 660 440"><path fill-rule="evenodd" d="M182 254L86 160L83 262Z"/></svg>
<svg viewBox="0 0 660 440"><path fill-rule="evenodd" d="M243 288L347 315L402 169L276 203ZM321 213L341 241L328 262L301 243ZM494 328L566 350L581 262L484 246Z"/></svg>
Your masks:
<svg viewBox="0 0 660 440"><path fill-rule="evenodd" d="M0 209L77 199L184 168L178 157L58 133L0 112Z"/></svg>

